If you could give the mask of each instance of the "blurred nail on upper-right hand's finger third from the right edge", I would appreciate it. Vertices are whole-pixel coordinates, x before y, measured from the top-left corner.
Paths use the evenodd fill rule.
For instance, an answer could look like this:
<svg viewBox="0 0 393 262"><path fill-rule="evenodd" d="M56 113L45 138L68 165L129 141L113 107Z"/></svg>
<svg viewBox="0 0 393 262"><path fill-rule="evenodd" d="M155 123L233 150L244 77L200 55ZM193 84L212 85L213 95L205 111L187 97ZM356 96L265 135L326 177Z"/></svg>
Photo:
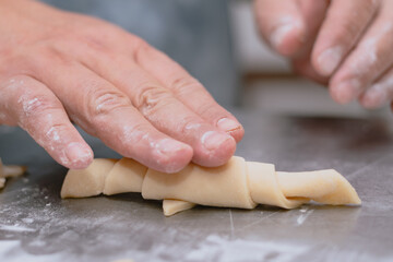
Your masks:
<svg viewBox="0 0 393 262"><path fill-rule="evenodd" d="M343 57L343 48L340 46L327 48L317 59L320 73L324 76L331 75L338 67Z"/></svg>

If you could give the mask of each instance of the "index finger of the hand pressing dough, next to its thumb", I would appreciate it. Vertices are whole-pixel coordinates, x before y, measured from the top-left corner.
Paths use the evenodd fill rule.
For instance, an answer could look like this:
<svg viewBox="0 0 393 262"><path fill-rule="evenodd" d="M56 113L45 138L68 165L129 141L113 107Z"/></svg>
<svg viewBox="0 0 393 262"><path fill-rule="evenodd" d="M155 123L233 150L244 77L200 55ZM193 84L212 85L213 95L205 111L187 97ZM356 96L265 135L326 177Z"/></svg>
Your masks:
<svg viewBox="0 0 393 262"><path fill-rule="evenodd" d="M46 63L37 70L39 78L52 87L73 120L109 147L165 172L179 171L191 160L189 145L156 130L109 82L79 63L56 57ZM41 73L44 68L51 72Z"/></svg>

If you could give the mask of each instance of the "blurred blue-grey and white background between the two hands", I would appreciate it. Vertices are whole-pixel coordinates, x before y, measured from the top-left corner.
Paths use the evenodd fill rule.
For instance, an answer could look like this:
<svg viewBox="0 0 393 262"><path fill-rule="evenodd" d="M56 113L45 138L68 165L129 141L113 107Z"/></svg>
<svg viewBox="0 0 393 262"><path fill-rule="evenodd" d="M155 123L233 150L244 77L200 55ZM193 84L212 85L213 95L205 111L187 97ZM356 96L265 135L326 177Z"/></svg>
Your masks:
<svg viewBox="0 0 393 262"><path fill-rule="evenodd" d="M225 107L278 114L390 116L335 104L325 87L291 73L260 39L250 0L44 0L110 21L168 53ZM99 34L99 32L97 32Z"/></svg>

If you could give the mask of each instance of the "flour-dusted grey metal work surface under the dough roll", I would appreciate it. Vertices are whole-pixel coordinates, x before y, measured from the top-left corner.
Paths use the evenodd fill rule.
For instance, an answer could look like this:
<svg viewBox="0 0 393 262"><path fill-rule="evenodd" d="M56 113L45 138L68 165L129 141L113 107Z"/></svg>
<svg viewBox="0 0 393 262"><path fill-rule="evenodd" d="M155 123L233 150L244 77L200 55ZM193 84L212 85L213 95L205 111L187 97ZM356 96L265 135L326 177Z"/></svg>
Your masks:
<svg viewBox="0 0 393 262"><path fill-rule="evenodd" d="M0 127L3 162L28 166L0 193L0 261L393 260L391 122L236 115L246 128L237 155L283 171L335 168L362 206L198 206L165 217L160 202L136 193L61 200L67 170L24 132ZM96 157L115 155L87 140Z"/></svg>

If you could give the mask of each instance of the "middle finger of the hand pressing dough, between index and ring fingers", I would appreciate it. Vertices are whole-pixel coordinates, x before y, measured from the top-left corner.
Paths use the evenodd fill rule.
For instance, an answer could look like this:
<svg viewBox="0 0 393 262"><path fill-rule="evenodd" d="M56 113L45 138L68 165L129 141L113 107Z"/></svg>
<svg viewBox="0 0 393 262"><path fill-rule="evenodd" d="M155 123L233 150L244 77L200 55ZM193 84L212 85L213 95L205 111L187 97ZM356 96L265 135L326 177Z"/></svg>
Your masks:
<svg viewBox="0 0 393 262"><path fill-rule="evenodd" d="M233 156L236 142L229 134L207 123L138 64L121 58L116 62L100 60L95 69L100 68L103 78L121 88L156 129L191 145L193 162L219 166Z"/></svg>

